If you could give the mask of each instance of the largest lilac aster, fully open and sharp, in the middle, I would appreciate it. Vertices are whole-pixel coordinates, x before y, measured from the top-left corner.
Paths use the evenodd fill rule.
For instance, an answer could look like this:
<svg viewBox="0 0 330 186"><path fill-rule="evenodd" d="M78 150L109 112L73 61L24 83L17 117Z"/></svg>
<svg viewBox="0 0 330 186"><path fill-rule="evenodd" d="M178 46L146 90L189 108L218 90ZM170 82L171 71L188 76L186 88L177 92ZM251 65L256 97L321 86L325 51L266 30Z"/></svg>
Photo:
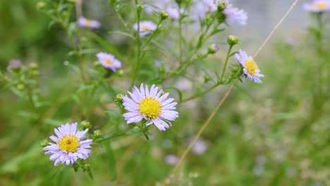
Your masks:
<svg viewBox="0 0 330 186"><path fill-rule="evenodd" d="M158 87L152 85L149 89L147 85L140 86L140 89L133 87L133 92L128 92L130 98L126 95L123 97L123 106L128 111L123 116L128 124L138 123L142 119L147 120L148 125L156 125L159 130L166 130L172 126L170 120L178 118L176 102L173 98L168 98L169 93L162 94L161 89L158 92Z"/></svg>

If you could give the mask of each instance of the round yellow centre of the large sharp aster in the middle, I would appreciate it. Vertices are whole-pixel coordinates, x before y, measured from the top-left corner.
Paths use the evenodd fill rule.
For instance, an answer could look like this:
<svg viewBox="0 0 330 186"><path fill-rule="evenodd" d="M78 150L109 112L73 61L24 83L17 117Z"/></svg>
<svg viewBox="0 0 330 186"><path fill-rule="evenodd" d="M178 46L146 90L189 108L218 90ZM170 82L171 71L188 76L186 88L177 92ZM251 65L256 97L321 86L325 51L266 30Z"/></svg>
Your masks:
<svg viewBox="0 0 330 186"><path fill-rule="evenodd" d="M154 97L145 97L140 101L139 111L149 119L158 118L161 113L161 102Z"/></svg>

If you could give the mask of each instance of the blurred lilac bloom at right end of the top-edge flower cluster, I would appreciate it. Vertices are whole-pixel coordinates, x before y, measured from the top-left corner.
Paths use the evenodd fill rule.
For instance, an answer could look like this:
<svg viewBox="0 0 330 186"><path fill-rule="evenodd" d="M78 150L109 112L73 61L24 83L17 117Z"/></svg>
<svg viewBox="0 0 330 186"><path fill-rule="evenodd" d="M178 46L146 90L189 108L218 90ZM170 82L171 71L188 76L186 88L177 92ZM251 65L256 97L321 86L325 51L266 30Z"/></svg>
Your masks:
<svg viewBox="0 0 330 186"><path fill-rule="evenodd" d="M233 7L232 4L228 4L223 13L226 15L226 22L238 23L240 25L246 25L247 23L247 13L243 10Z"/></svg>

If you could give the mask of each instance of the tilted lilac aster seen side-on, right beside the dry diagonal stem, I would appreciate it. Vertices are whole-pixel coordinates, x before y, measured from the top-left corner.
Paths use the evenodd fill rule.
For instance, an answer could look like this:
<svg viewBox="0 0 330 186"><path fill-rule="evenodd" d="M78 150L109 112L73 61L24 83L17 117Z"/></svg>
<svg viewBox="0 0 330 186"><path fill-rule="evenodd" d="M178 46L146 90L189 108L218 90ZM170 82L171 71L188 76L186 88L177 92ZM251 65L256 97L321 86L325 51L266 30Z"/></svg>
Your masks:
<svg viewBox="0 0 330 186"><path fill-rule="evenodd" d="M260 80L259 77L264 77L264 75L260 73L257 63L255 63L252 56L247 56L245 51L240 50L234 57L243 67L243 75L247 77L247 79L253 82L262 83L262 80Z"/></svg>

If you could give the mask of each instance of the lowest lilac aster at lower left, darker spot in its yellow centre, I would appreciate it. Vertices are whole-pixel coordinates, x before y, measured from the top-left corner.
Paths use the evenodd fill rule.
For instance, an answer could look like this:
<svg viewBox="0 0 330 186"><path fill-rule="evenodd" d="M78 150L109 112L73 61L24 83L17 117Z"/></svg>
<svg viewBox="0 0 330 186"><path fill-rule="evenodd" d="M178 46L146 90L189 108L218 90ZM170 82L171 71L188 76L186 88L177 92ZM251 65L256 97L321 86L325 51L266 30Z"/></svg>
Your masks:
<svg viewBox="0 0 330 186"><path fill-rule="evenodd" d="M51 154L50 160L55 161L54 166L59 162L66 163L66 165L73 164L78 159L87 159L90 153L90 144L92 140L84 140L84 131L76 131L77 123L61 125L61 127L54 129L56 136L49 137L55 143L49 142L49 146L44 147L46 151L44 154Z"/></svg>

